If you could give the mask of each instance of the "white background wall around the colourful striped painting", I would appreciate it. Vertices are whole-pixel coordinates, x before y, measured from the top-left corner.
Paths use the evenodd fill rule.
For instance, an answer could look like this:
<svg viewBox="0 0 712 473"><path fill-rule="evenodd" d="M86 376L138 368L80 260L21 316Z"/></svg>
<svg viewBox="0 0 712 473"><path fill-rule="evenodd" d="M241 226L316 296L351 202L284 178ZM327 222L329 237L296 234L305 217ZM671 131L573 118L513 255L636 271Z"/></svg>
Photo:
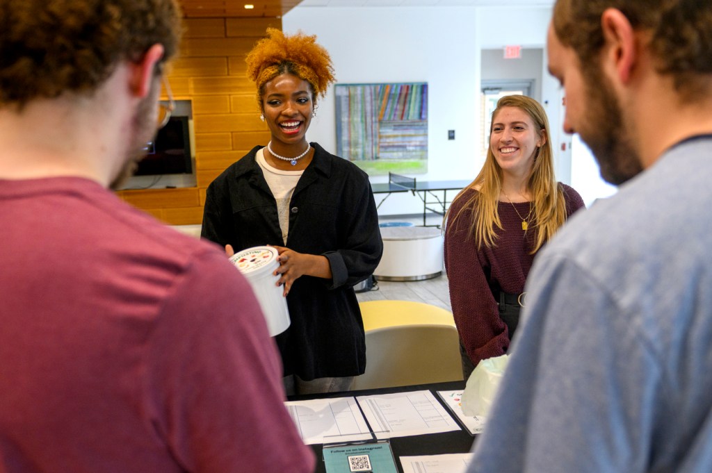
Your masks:
<svg viewBox="0 0 712 473"><path fill-rule="evenodd" d="M481 49L511 44L543 48L550 14L548 7L297 6L282 18L282 27L286 33L317 36L333 59L337 83L427 82L428 172L417 178L473 179L482 166L477 153ZM560 129L560 90L548 73L538 73L551 125ZM319 103L308 139L335 152L335 129L332 87ZM449 129L456 139L447 139ZM553 137L556 147L557 139ZM570 163L563 163L557 177L568 182L569 176ZM402 194L389 197L379 214L421 211L417 198Z"/></svg>

